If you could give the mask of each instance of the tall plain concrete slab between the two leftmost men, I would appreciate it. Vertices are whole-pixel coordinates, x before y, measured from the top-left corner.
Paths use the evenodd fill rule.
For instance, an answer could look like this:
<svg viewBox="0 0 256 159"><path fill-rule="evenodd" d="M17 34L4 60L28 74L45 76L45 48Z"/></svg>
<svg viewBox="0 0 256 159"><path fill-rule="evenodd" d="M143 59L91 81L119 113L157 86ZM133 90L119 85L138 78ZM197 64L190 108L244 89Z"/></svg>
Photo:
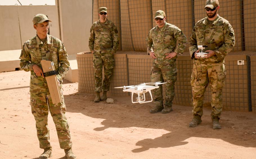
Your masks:
<svg viewBox="0 0 256 159"><path fill-rule="evenodd" d="M64 42L68 54L89 51L92 1L59 0L59 6L63 32L62 42Z"/></svg>

